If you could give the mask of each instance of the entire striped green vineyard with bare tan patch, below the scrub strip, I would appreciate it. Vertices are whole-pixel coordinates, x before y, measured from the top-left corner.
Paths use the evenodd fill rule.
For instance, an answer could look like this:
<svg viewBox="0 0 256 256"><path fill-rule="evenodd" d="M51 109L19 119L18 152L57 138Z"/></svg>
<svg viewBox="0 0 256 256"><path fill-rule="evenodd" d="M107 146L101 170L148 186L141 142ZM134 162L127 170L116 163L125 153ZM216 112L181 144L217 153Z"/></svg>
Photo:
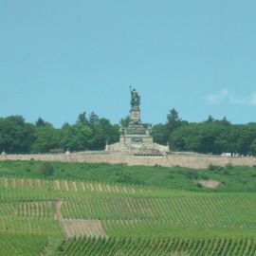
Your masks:
<svg viewBox="0 0 256 256"><path fill-rule="evenodd" d="M0 177L0 255L256 255L256 193Z"/></svg>

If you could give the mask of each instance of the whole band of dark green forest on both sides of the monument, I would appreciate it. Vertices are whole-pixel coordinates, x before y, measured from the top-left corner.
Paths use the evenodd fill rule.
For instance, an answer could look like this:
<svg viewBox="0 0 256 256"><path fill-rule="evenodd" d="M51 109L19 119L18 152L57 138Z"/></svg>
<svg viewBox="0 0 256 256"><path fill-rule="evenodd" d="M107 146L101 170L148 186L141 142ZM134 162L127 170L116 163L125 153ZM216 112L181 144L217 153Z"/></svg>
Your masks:
<svg viewBox="0 0 256 256"><path fill-rule="evenodd" d="M89 115L83 112L76 123L64 123L61 128L41 118L35 123L27 122L22 116L0 118L0 152L103 150L106 143L119 141L119 125L128 123L129 117L112 124L94 112ZM189 122L180 119L173 108L165 123L152 126L152 136L156 143L169 144L172 151L256 155L256 122L232 124L226 118L213 119L211 116L201 122Z"/></svg>

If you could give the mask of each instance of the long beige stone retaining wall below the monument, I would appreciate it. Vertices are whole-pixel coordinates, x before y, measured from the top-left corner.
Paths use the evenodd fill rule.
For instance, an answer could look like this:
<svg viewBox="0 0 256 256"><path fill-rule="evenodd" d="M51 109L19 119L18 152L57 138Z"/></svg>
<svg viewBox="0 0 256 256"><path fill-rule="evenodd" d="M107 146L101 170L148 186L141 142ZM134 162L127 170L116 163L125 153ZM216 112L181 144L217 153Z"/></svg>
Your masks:
<svg viewBox="0 0 256 256"><path fill-rule="evenodd" d="M230 163L236 166L256 165L256 157L227 157L213 155L165 155L135 156L109 152L86 152L60 155L0 155L0 160L42 160L64 162L126 163L128 165L147 166L184 166L191 168L207 168L209 164L225 166Z"/></svg>

